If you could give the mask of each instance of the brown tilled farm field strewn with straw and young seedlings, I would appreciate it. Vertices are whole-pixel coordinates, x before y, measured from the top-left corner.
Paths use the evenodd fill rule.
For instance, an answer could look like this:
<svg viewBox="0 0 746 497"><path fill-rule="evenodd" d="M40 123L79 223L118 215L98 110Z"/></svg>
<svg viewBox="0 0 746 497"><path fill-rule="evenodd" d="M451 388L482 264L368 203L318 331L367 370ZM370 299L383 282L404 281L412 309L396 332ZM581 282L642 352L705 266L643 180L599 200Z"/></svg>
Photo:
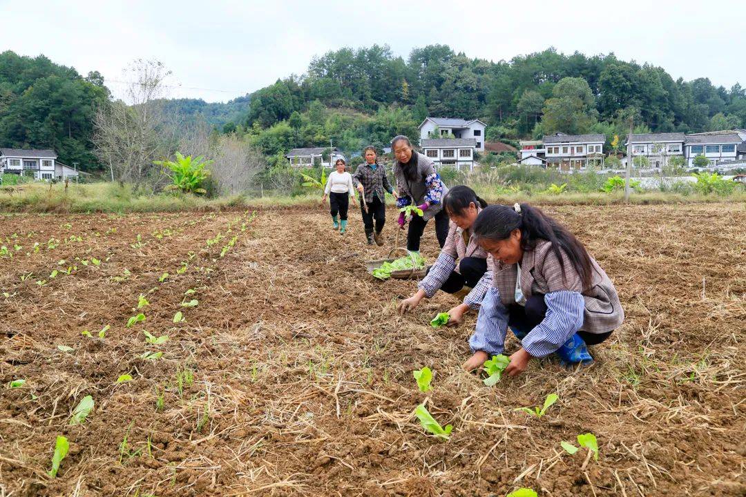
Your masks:
<svg viewBox="0 0 746 497"><path fill-rule="evenodd" d="M305 208L0 217L0 495L745 495L746 203L546 211L626 320L592 367L532 361L495 387L460 368L474 314L430 326L455 297L400 317L415 283L365 272L392 210L386 247L355 209L344 237ZM423 241L432 261L432 223ZM515 411L549 393L544 417ZM588 432L598 460L561 448Z"/></svg>

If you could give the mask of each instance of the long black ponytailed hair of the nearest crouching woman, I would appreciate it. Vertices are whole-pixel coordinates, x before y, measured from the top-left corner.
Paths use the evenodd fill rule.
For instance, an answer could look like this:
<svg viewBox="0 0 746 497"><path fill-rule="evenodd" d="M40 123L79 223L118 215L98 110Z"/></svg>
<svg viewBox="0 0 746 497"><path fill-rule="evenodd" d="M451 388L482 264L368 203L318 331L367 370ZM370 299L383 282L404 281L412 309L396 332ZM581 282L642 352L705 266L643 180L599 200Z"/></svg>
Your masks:
<svg viewBox="0 0 746 497"><path fill-rule="evenodd" d="M521 230L521 248L532 250L539 240L551 241L552 250L560 262L562 277L565 278L565 263L562 253L570 259L573 268L580 275L583 290L590 288L593 265L586 247L567 228L545 215L541 209L527 203L515 206L495 205L483 209L474 221L474 235L487 240L505 240L514 229Z"/></svg>

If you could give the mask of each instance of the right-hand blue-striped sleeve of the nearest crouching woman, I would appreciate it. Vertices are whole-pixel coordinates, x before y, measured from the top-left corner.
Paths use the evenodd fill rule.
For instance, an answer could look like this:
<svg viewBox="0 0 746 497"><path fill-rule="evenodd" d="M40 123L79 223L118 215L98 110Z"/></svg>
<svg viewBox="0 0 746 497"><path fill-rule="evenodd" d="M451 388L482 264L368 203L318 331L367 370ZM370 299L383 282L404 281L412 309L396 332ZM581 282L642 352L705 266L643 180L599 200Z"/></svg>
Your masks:
<svg viewBox="0 0 746 497"><path fill-rule="evenodd" d="M556 352L583 326L586 303L577 291L552 291L544 296L547 314L531 332L521 340L524 350L533 357L544 357Z"/></svg>

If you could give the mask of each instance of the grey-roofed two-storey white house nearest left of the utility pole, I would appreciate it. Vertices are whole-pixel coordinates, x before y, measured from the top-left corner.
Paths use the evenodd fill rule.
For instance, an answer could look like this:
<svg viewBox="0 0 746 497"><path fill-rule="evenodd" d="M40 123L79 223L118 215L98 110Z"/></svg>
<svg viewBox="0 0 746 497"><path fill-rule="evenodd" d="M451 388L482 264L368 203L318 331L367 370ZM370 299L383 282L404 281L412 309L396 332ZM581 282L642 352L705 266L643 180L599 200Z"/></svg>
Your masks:
<svg viewBox="0 0 746 497"><path fill-rule="evenodd" d="M605 135L565 135L565 133L545 135L542 139L546 150L547 166L557 167L560 171L583 169L589 165L603 167L605 142Z"/></svg>

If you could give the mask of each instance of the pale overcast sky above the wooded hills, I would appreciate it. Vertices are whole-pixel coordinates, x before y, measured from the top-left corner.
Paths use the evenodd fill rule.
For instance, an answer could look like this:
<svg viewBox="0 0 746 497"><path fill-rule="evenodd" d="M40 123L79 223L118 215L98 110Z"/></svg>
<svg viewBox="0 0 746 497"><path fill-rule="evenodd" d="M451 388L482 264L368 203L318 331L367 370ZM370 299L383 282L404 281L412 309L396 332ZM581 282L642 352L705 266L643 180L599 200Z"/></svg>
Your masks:
<svg viewBox="0 0 746 497"><path fill-rule="evenodd" d="M115 95L132 60L172 71L169 96L228 101L302 74L342 46L448 44L510 60L554 46L662 66L676 79L746 86L746 1L7 1L0 51L44 54Z"/></svg>

